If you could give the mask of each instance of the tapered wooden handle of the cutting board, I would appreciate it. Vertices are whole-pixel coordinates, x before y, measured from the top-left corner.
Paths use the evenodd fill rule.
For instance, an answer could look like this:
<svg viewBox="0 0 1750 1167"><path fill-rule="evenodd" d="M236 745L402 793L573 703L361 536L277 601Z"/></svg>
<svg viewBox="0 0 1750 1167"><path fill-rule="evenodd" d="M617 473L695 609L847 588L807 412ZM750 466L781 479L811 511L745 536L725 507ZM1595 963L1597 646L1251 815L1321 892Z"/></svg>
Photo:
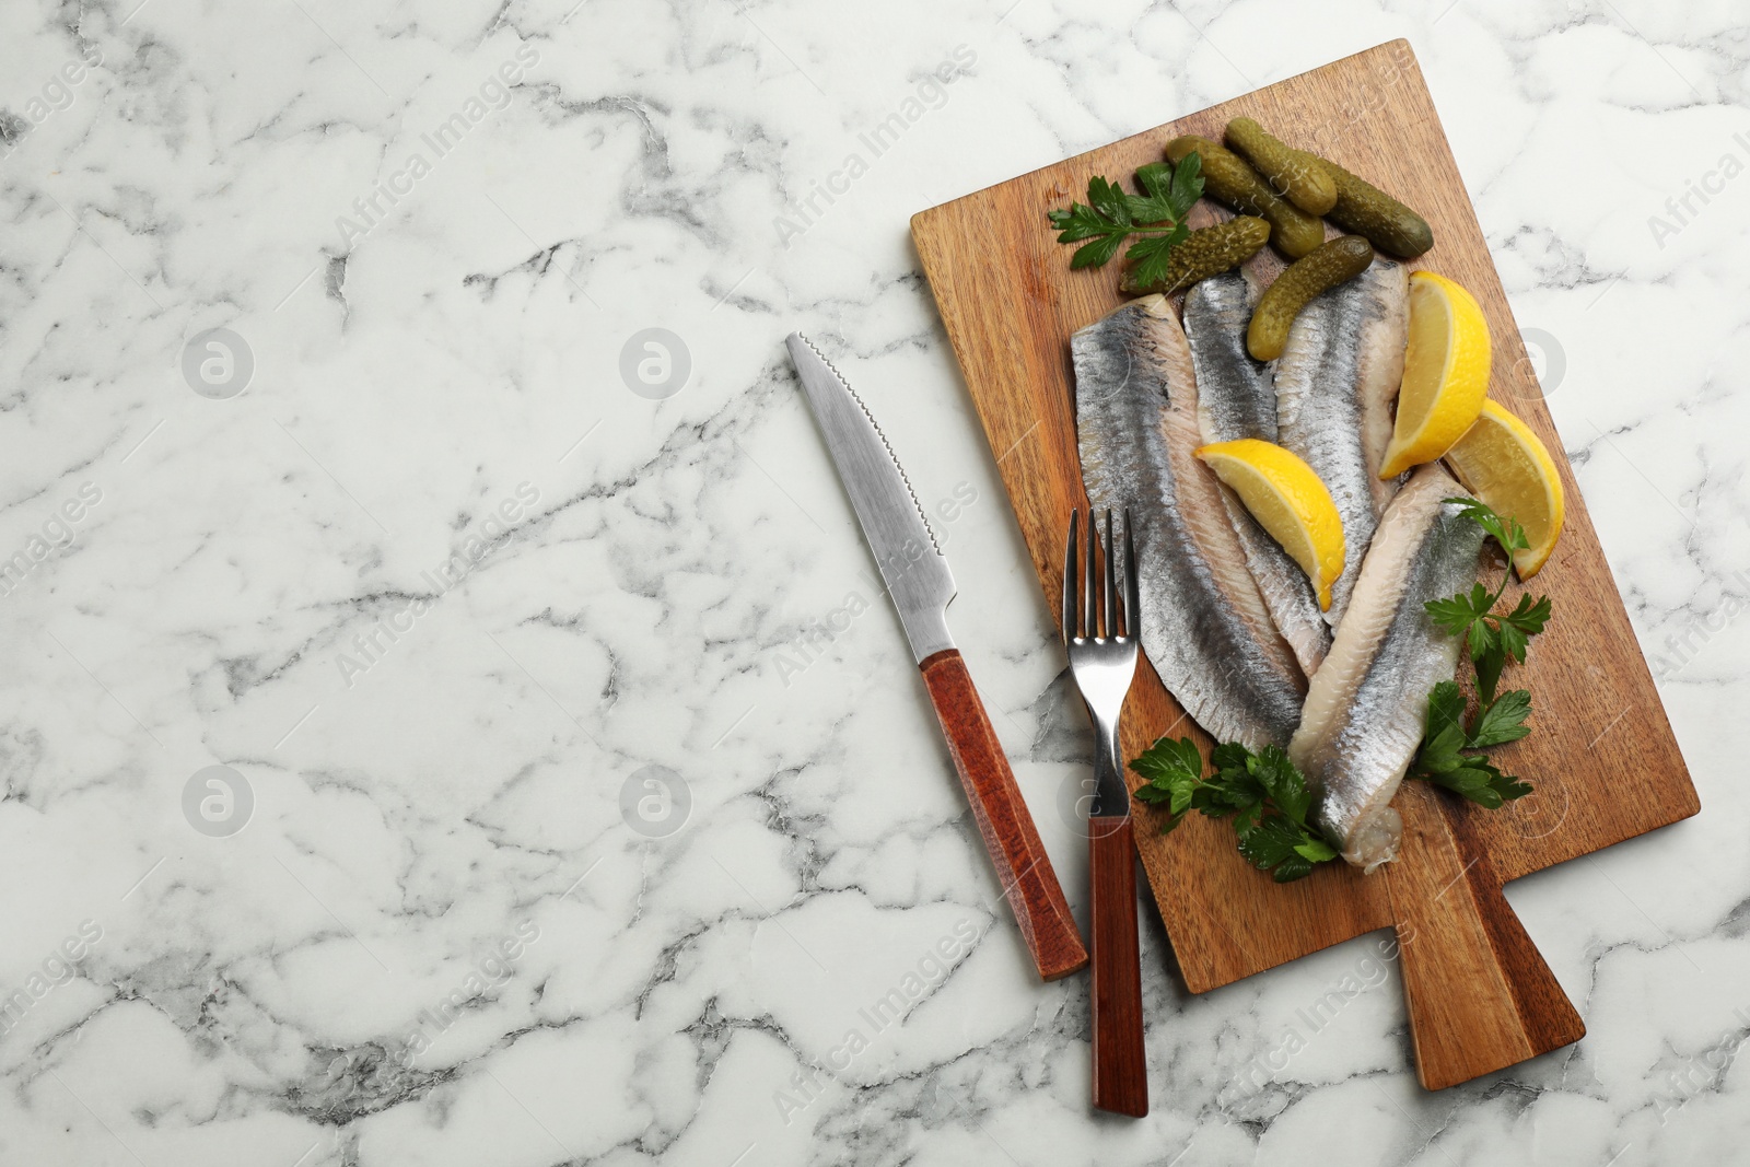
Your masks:
<svg viewBox="0 0 1750 1167"><path fill-rule="evenodd" d="M1426 782L1405 782L1398 863L1386 866L1416 1076L1470 1081L1586 1036L1556 975L1502 896L1488 852Z"/></svg>

